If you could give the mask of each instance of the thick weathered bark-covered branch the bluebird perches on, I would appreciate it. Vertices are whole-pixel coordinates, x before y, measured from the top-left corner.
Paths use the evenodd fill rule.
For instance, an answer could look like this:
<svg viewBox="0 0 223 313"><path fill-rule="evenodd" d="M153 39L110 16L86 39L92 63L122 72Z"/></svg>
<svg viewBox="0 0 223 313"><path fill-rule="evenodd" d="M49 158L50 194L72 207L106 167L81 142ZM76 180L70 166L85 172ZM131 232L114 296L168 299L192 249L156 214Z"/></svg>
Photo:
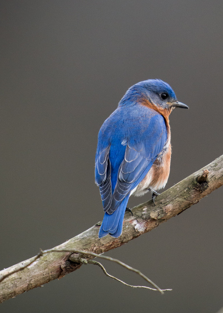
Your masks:
<svg viewBox="0 0 223 313"><path fill-rule="evenodd" d="M148 201L133 208L134 216L127 212L125 214L123 232L119 238L106 236L99 239L98 230L100 223L98 223L55 248L79 249L97 254L109 251L156 228L159 224L198 203L201 198L222 185L223 156L220 156L201 170L163 192L156 198L156 206L153 205L152 201ZM78 257L80 256L76 253L69 252L45 254L27 268L23 268L1 281L4 275L23 267L34 257L10 268L3 269L0 271L0 303L24 291L48 283L53 279L62 278L67 273L80 268L81 264L76 263ZM88 257L88 259L90 258L92 256Z"/></svg>

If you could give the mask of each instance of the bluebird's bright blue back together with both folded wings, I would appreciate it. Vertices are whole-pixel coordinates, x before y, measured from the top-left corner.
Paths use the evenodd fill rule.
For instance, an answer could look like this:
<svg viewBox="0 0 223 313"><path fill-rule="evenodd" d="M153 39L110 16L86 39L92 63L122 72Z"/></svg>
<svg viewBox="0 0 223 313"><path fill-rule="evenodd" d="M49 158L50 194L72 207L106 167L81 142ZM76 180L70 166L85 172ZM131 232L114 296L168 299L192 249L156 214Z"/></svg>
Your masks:
<svg viewBox="0 0 223 313"><path fill-rule="evenodd" d="M129 198L167 140L166 125L160 114L145 107L140 112L133 111L113 112L98 136L95 182L108 214L112 214L124 198Z"/></svg>

